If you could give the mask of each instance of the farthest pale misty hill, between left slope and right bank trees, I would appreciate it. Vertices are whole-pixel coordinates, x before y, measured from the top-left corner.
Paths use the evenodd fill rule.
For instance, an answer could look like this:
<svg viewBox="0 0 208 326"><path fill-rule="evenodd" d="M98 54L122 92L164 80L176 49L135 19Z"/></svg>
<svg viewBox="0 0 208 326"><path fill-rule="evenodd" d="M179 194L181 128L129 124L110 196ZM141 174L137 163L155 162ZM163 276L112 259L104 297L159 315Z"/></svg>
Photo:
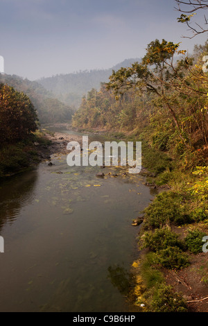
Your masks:
<svg viewBox="0 0 208 326"><path fill-rule="evenodd" d="M141 61L140 58L126 59L110 69L85 70L72 74L60 74L37 80L45 89L58 96L58 99L75 108L81 103L83 95L92 88L99 89L101 83L107 83L112 69L115 71L121 67L130 67L132 63Z"/></svg>

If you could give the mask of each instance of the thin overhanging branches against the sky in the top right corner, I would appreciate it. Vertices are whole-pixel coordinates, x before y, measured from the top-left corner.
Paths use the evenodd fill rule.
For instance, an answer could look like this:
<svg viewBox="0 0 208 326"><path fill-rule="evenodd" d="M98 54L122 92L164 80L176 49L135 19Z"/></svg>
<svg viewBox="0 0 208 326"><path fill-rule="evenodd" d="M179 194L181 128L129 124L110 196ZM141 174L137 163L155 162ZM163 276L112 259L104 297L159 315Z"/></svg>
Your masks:
<svg viewBox="0 0 208 326"><path fill-rule="evenodd" d="M197 12L200 12L201 10L208 9L208 1L207 0L175 0L177 3L177 8L179 12L182 12L179 18L177 18L177 21L180 23L185 23L189 27L189 31L193 33L191 37L196 37L196 35L200 35L202 33L206 33L208 31L207 25L207 17L204 15L205 19L205 26L203 27L201 24L198 24L195 22L194 25L192 25L191 19L194 15L197 14ZM190 15L187 15L190 14Z"/></svg>

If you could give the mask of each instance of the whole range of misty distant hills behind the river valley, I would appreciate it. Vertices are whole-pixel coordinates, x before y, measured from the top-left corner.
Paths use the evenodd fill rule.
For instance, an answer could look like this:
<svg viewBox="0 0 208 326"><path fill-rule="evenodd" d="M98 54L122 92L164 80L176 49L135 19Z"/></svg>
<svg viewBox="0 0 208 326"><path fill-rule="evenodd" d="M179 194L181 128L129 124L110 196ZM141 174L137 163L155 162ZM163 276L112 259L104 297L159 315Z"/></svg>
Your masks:
<svg viewBox="0 0 208 326"><path fill-rule="evenodd" d="M0 74L0 83L12 86L31 98L40 123L67 122L87 92L92 88L100 89L101 83L107 83L112 69L116 71L121 67L130 67L139 60L141 59L127 59L110 69L78 71L36 81L17 75Z"/></svg>

